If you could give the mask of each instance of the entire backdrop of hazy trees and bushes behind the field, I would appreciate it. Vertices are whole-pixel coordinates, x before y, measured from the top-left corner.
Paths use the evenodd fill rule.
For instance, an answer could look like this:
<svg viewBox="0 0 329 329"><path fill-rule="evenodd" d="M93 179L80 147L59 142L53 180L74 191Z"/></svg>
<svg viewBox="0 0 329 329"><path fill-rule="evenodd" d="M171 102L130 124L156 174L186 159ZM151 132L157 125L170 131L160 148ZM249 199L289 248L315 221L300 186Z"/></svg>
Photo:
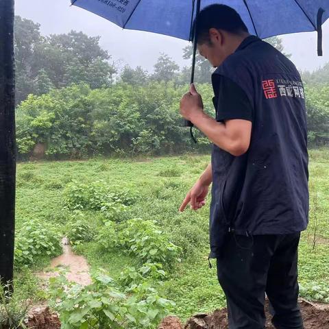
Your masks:
<svg viewBox="0 0 329 329"><path fill-rule="evenodd" d="M74 31L41 36L38 24L19 16L15 28L16 134L21 160L209 153L208 140L197 130L198 144L191 143L178 111L188 90L190 66L180 69L162 53L153 73L128 65L120 71L110 64L99 37ZM267 41L284 51L280 38ZM182 56L191 59L191 45ZM210 64L198 55L195 70L205 110L214 116ZM326 65L316 74L303 73L308 139L313 147L329 141L328 72ZM26 181L32 179L32 173L24 175Z"/></svg>

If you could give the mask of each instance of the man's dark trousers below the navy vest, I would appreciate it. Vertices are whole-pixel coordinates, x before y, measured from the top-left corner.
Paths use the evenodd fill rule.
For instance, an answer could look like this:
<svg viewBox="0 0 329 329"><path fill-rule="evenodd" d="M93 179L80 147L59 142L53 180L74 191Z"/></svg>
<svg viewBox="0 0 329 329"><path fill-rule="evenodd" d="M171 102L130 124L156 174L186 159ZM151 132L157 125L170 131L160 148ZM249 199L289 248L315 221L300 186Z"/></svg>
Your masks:
<svg viewBox="0 0 329 329"><path fill-rule="evenodd" d="M226 294L230 329L265 328L265 293L277 329L302 329L297 305L297 247L300 233L242 236L229 234L217 258Z"/></svg>

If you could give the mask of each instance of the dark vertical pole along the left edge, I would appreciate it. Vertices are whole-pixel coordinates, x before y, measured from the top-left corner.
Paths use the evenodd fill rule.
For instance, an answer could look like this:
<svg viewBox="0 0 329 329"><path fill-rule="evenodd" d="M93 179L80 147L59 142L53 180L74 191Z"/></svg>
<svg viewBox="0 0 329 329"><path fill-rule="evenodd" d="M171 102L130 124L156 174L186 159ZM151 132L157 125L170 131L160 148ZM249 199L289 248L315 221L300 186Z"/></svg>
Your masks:
<svg viewBox="0 0 329 329"><path fill-rule="evenodd" d="M0 277L13 279L15 230L14 0L0 0Z"/></svg>

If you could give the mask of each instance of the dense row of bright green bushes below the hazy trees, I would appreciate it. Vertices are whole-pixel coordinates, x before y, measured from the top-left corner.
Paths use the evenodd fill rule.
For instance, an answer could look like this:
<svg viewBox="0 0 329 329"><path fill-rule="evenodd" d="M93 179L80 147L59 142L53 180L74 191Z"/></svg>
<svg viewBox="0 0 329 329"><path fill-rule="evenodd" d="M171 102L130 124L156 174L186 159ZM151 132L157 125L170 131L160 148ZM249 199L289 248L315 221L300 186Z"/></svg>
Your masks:
<svg viewBox="0 0 329 329"><path fill-rule="evenodd" d="M149 82L145 86L115 84L91 90L74 85L36 97L30 95L16 110L17 143L21 158L44 145L48 158L86 158L97 154L136 156L209 151L206 138L197 133L192 145L179 101L187 86ZM210 114L212 87L198 86ZM308 139L311 145L329 141L329 85L306 88ZM29 180L31 173L25 173Z"/></svg>

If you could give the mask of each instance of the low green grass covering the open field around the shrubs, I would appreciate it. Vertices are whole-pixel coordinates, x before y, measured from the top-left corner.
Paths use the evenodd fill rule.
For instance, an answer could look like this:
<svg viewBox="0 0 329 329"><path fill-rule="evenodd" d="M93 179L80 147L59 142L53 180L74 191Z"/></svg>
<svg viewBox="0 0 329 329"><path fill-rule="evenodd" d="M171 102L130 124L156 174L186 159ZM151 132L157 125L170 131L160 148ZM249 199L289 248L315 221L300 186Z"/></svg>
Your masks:
<svg viewBox="0 0 329 329"><path fill-rule="evenodd" d="M208 268L208 206L199 212L178 208L188 188L206 168L209 156L177 156L144 160L95 159L86 161L30 162L18 166L16 228L31 219L58 224L64 234L67 210L63 210L63 191L72 180L88 184L103 180L113 190L128 189L137 196L130 206L130 217L155 220L171 241L184 250L182 263L171 271L162 291L176 302L175 313L186 319L191 313L208 312L225 305L217 282L215 261ZM300 281L329 280L329 151L310 151L310 226L300 245ZM88 213L95 227L99 214ZM317 222L317 226L315 223ZM315 228L317 229L315 231ZM315 250L313 239L315 234ZM136 262L122 251L101 252L95 242L77 247L86 256L91 270L107 269L115 279L126 265ZM16 270L16 286L23 293L42 297L33 271L49 266L49 259L33 269Z"/></svg>

